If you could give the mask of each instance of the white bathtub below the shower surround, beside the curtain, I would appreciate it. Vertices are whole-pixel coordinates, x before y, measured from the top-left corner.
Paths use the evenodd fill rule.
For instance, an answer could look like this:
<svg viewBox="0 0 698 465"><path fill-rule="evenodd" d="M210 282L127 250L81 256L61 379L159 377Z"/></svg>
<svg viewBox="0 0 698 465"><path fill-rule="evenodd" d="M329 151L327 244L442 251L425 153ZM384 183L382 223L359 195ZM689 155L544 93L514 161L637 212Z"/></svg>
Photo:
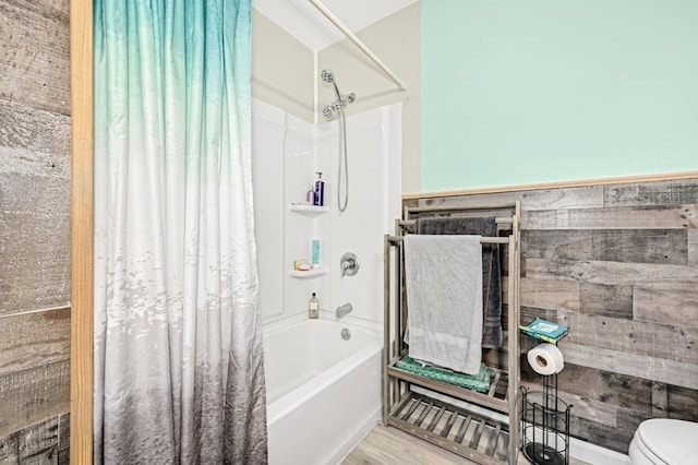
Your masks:
<svg viewBox="0 0 698 465"><path fill-rule="evenodd" d="M323 319L263 334L269 464L339 463L381 416L378 334Z"/></svg>

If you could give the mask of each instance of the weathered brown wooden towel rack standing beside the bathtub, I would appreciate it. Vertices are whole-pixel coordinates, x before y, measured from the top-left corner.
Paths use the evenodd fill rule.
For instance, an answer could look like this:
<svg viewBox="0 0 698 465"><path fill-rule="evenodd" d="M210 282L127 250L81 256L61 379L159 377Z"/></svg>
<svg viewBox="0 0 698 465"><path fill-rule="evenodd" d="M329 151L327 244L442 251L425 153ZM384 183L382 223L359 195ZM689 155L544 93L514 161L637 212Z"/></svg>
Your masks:
<svg viewBox="0 0 698 465"><path fill-rule="evenodd" d="M497 214L497 236L482 243L506 247L507 329L506 369L489 367L490 388L480 393L397 368L408 354L407 297L402 239L417 218ZM502 215L506 212L506 215ZM404 208L396 235L384 240L384 375L383 424L480 464L516 464L520 449L519 286L520 202L478 206L417 206ZM508 234L503 234L508 233Z"/></svg>

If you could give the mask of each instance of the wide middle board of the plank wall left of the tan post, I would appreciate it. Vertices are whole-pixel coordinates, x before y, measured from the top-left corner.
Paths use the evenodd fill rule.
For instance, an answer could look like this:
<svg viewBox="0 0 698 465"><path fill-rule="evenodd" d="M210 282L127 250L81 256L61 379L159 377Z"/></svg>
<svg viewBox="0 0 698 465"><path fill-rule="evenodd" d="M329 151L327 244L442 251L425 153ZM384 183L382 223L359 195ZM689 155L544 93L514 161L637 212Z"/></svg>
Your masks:
<svg viewBox="0 0 698 465"><path fill-rule="evenodd" d="M70 118L1 99L0 118L0 314L65 305Z"/></svg>

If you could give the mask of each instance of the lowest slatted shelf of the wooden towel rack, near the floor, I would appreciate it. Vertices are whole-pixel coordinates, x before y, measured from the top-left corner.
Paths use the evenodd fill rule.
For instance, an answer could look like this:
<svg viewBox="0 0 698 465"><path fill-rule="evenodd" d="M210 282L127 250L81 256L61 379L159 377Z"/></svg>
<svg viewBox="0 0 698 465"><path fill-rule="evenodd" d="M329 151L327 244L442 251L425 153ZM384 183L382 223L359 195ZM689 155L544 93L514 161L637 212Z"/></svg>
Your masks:
<svg viewBox="0 0 698 465"><path fill-rule="evenodd" d="M507 460L508 425L422 394L407 393L387 424L480 464Z"/></svg>

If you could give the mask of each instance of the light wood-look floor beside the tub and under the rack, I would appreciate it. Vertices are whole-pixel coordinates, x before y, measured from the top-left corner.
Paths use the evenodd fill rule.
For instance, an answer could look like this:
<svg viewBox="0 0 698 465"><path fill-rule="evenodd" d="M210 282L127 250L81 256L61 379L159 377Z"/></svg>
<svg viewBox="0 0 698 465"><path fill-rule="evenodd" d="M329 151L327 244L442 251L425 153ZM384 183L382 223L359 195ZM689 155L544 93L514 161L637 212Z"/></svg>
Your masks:
<svg viewBox="0 0 698 465"><path fill-rule="evenodd" d="M467 458L422 441L397 428L377 425L345 458L342 465L448 465L472 464ZM585 462L571 458L570 465L583 465ZM528 461L519 455L519 464Z"/></svg>

